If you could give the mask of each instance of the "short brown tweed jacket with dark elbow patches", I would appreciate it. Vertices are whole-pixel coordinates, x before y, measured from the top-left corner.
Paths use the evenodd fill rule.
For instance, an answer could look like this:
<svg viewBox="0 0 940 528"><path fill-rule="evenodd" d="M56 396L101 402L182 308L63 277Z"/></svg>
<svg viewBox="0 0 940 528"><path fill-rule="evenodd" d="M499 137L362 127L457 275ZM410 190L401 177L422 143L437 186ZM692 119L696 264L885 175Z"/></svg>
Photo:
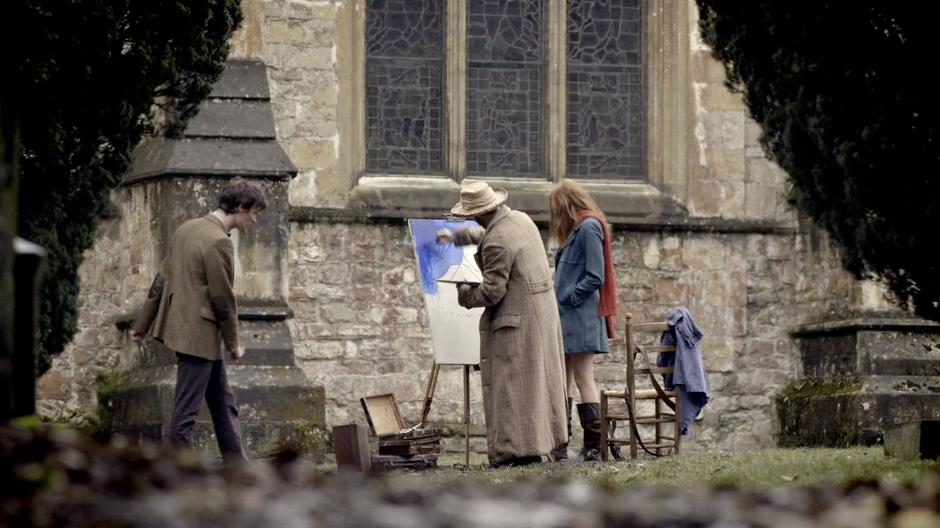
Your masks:
<svg viewBox="0 0 940 528"><path fill-rule="evenodd" d="M167 348L221 359L238 349L238 306L232 283L235 248L222 221L208 214L173 233L134 330L150 331Z"/></svg>

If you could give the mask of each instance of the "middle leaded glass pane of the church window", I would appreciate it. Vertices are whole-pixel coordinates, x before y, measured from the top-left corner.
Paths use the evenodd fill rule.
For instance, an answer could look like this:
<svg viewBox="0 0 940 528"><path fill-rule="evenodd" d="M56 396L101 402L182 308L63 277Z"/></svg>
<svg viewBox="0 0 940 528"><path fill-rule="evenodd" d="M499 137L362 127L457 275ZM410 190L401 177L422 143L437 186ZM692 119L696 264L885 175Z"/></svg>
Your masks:
<svg viewBox="0 0 940 528"><path fill-rule="evenodd" d="M470 0L467 172L542 171L542 0Z"/></svg>

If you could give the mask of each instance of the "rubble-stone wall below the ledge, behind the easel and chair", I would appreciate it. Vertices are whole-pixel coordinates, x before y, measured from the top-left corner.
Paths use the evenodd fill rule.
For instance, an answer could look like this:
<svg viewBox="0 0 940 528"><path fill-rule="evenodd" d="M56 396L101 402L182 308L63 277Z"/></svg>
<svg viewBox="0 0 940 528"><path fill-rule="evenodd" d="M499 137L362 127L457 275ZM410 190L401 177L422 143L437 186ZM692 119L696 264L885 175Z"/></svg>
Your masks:
<svg viewBox="0 0 940 528"><path fill-rule="evenodd" d="M410 244L405 226L293 226L295 350L308 377L327 387L331 423L362 421L358 398L385 392L395 394L406 421L420 416L432 354ZM648 321L682 304L706 334L713 401L692 444L773 445L773 397L799 368L788 327L844 309L852 290L836 254L800 234L632 231L617 233L614 259L624 311ZM622 365L617 343L596 361L598 383L615 386ZM472 380L472 420L480 425L479 378ZM460 369L445 369L430 419L459 423L461 390Z"/></svg>

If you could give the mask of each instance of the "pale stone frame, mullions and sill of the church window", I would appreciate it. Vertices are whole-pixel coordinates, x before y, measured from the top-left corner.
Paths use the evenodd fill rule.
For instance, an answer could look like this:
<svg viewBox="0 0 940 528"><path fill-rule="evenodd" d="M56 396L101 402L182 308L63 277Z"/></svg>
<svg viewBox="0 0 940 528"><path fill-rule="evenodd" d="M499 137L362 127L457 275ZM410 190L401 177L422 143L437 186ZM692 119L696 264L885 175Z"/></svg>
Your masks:
<svg viewBox="0 0 940 528"><path fill-rule="evenodd" d="M567 106L567 2L546 2L545 175L542 178L468 177L467 1L446 4L444 35L444 174L370 174L366 171L366 0L343 2L337 13L336 68L339 78L339 176L351 190L349 205L370 216L400 217L450 209L460 185L484 179L509 191L509 204L546 219L548 192L565 173ZM645 182L579 180L611 221L686 216L692 159L689 0L645 0L646 166Z"/></svg>

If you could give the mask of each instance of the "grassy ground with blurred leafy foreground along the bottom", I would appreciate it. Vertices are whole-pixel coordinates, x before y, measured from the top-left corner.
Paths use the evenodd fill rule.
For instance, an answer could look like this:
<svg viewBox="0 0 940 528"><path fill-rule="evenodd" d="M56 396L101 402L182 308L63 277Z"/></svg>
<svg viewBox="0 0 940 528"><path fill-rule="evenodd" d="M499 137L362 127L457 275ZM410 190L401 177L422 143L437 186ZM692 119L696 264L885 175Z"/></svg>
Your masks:
<svg viewBox="0 0 940 528"><path fill-rule="evenodd" d="M624 462L336 471L298 452L220 467L191 451L0 427L0 526L940 526L940 465L879 448Z"/></svg>

